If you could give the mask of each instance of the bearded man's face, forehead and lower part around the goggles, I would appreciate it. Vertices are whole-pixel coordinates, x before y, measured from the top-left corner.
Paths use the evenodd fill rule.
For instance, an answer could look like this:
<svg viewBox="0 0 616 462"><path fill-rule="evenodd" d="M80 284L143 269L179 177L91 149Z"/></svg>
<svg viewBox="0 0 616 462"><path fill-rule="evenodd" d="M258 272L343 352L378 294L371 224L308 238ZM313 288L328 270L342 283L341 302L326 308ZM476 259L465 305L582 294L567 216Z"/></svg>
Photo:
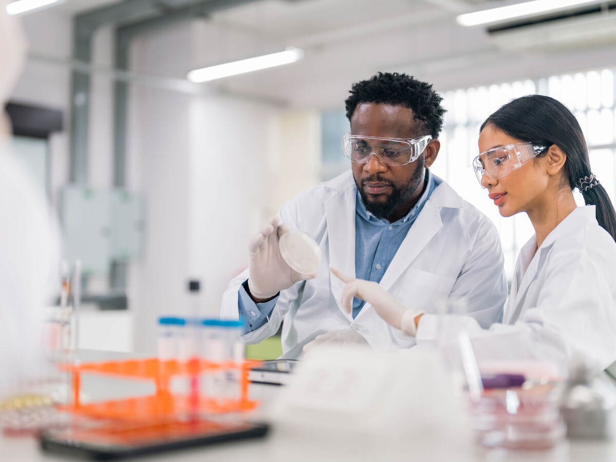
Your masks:
<svg viewBox="0 0 616 462"><path fill-rule="evenodd" d="M411 139L424 135L418 128L412 109L391 104L360 103L351 116L352 135ZM389 218L421 195L423 154L401 167L389 167L371 155L365 164L352 163L352 169L363 205L377 217Z"/></svg>

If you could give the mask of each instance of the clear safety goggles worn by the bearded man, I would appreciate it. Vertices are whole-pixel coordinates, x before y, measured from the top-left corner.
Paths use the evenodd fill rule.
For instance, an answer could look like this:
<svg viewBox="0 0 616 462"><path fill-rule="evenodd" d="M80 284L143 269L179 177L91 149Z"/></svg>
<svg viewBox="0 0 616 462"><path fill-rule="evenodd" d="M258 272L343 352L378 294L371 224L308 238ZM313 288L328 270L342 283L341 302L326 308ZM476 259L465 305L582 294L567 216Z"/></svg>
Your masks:
<svg viewBox="0 0 616 462"><path fill-rule="evenodd" d="M418 139L390 139L352 135L349 132L342 137L342 153L358 164L367 163L374 154L382 164L401 167L416 161L431 139L430 135Z"/></svg>

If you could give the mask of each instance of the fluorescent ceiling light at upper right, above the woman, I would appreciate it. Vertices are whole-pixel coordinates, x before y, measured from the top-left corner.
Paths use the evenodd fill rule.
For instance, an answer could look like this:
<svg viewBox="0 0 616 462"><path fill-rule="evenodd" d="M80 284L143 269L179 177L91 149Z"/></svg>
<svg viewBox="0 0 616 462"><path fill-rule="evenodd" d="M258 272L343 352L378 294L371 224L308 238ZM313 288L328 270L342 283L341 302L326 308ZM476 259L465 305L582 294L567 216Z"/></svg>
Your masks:
<svg viewBox="0 0 616 462"><path fill-rule="evenodd" d="M456 18L456 21L463 26L476 26L479 24L530 16L551 10L562 10L571 6L597 2L598 0L533 0L530 2L491 8L489 10L476 11L474 13L461 14Z"/></svg>

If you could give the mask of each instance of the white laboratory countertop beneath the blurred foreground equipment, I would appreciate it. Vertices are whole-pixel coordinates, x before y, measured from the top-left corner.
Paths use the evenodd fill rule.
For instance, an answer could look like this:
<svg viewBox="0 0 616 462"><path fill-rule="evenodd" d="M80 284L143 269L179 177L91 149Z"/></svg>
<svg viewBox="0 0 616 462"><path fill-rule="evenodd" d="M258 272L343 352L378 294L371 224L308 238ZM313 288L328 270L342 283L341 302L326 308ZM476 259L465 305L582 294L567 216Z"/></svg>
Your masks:
<svg viewBox="0 0 616 462"><path fill-rule="evenodd" d="M118 358L118 354L83 352L84 360ZM147 393L153 386L144 381L124 381L101 376L83 376L83 390L95 399L110 399L120 395ZM261 410L267 410L280 387L251 384L251 398L261 400ZM470 449L469 449L470 448ZM62 456L43 453L37 440L31 437L0 436L0 460L7 462L38 462L66 460ZM456 448L451 445L429 444L423 438L408 435L405 440L383 441L366 439L354 434L309 434L285 428L272 428L269 435L254 440L163 452L131 460L143 461L373 461L373 460L455 460L455 461L616 461L616 439L611 441L572 441L541 452L506 452L486 450L477 445Z"/></svg>

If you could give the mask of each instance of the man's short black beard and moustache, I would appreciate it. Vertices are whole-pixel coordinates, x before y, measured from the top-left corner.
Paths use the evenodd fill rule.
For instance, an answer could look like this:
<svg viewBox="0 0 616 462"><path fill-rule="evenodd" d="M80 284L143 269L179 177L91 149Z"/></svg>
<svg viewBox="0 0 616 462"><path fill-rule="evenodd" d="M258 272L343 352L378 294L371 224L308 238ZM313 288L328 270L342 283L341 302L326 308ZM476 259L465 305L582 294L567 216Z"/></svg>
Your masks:
<svg viewBox="0 0 616 462"><path fill-rule="evenodd" d="M359 195L362 197L363 206L368 212L375 217L387 219L387 217L390 217L392 213L394 213L395 209L413 196L413 193L415 193L417 188L421 187L423 183L422 176L425 169L424 156L419 156L415 162L417 163L417 168L415 172L413 172L413 176L411 176L408 182L400 188L395 187L391 181L384 179L379 176L379 174L363 179L361 185L357 183L357 179L353 176L355 185L357 185L357 189L359 190ZM367 182L386 183L391 186L392 192L384 202L370 202L368 201L367 194L363 190L363 186Z"/></svg>

